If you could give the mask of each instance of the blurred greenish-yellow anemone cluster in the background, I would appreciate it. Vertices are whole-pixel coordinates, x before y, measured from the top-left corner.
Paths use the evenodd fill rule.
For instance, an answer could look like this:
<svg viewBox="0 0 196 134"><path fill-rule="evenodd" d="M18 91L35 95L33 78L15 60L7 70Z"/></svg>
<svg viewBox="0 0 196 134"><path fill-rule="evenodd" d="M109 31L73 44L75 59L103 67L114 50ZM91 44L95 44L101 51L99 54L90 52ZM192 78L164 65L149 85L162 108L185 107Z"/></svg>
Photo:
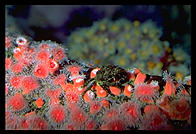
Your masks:
<svg viewBox="0 0 196 134"><path fill-rule="evenodd" d="M174 51L175 56L172 57L170 44L160 40L161 35L162 29L151 20L140 23L137 20L130 22L122 18L112 21L105 18L94 22L91 27L79 28L71 33L67 39L69 56L96 65L114 64L123 68L131 65L145 73L161 75L162 70L168 68L165 64L170 60L183 57L180 56L182 53L188 56L182 50L180 54ZM186 61L187 58L182 59L182 62ZM183 80L183 76L190 71L185 64L181 67L180 63L176 60L172 67L177 68L177 71L172 67L171 70L177 73L177 78Z"/></svg>

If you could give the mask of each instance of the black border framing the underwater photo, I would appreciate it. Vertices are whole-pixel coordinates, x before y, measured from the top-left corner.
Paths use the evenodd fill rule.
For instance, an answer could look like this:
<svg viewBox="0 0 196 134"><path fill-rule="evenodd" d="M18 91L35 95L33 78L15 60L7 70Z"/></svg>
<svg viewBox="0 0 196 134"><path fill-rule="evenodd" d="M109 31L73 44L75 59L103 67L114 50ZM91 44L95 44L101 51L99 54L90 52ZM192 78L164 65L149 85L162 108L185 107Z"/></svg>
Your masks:
<svg viewBox="0 0 196 134"><path fill-rule="evenodd" d="M57 2L59 2L58 4L57 4ZM41 4L42 3L42 4ZM84 4L86 4L86 5L92 5L92 4L95 4L96 3L96 5L118 5L118 4L120 4L120 5L129 5L129 4L139 4L139 5L192 5L192 0L99 0L99 1L95 1L95 0L89 0L89 1L86 1L86 0L80 0L80 1L76 1L76 0L64 0L64 1L58 1L58 0L48 0L47 2L45 2L44 3L44 1L41 1L41 0L1 0L0 1L0 20L2 21L2 23L1 23L1 27L2 28L0 28L2 31L0 32L1 33L1 36L0 36L0 47L1 47L1 54L0 54L0 59L3 59L3 64L5 63L5 53L4 53L4 42L5 42L5 37L2 35L2 34L4 34L5 33L5 5L51 5L51 4L54 4L54 5L61 5L61 4L63 4L63 5L84 5ZM191 6L191 10L193 10L194 9L194 7L193 6ZM191 11L191 15L192 15L192 17L193 17L193 11ZM193 23L193 19L192 19L192 17L191 17L191 22L192 22L192 24L194 24ZM193 27L192 27L193 28ZM194 30L192 30L191 31L191 39L192 39L192 41L193 41L193 33L194 33ZM5 34L4 34L5 35ZM192 44L193 44L193 42L192 42ZM192 50L194 50L193 49L193 45L191 45L191 61L193 61L193 51ZM193 72L194 72L194 64L192 64L192 73L191 73L191 75L193 74ZM5 69L5 67L4 67L4 65L2 65L2 67L1 67L1 81L4 81L5 80L5 71L4 71L4 69ZM192 78L194 78L193 77L193 75L191 76ZM193 81L194 79L192 79L192 81ZM27 131L9 131L9 130L6 130L5 131L5 90L4 90L4 88L5 88L5 84L4 84L4 82L0 82L1 83L1 93L0 93L0 95L1 95L1 103L0 103L0 106L1 106L1 110L0 110L0 115L1 115L1 121L0 121L0 132L9 132L9 133L21 133L21 132L27 132ZM194 86L194 84L193 84L193 86ZM3 92L2 92L3 91ZM194 90L193 90L193 92L194 92ZM191 97L191 99L192 99L193 97ZM192 113L194 113L193 111L193 104L194 104L194 102L192 101L191 102L191 105L192 105ZM193 114L192 114L192 119L193 119ZM194 124L194 123L192 123L192 124ZM192 125L192 130L194 129L194 127L193 127L193 125ZM192 132L192 130L188 130L188 131L117 131L117 132L113 132L113 131L96 131L96 132L100 132L100 133L110 133L110 132L113 132L113 133L153 133L153 132L157 132L157 133L189 133L189 132ZM28 131L28 133L31 133L31 132L49 132L48 130L47 131ZM50 131L50 132L52 132L52 131ZM50 133L49 132L49 133ZM88 133L88 132L92 132L92 133L94 133L94 131L58 131L57 130L57 133L61 133L61 132L63 132L63 133L73 133L73 134L75 134L75 133ZM53 133L53 132L52 132Z"/></svg>

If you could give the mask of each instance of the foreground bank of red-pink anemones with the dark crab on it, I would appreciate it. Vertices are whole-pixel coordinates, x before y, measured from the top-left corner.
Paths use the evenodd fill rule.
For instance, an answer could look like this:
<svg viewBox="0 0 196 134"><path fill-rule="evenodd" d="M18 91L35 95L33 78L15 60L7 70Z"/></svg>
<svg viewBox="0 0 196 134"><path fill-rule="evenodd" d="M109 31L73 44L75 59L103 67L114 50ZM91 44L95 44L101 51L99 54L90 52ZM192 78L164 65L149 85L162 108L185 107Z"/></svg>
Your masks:
<svg viewBox="0 0 196 134"><path fill-rule="evenodd" d="M191 77L98 67L55 42L5 38L6 130L190 129Z"/></svg>

